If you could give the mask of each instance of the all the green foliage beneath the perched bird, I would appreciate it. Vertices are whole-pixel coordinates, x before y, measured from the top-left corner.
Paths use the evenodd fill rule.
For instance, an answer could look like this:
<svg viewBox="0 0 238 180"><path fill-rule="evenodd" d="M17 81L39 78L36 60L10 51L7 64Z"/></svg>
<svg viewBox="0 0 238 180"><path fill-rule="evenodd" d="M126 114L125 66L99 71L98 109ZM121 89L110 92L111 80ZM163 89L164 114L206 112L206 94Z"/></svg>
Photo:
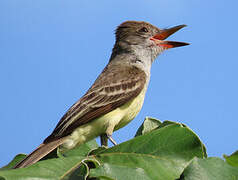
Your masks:
<svg viewBox="0 0 238 180"><path fill-rule="evenodd" d="M57 151L27 168L11 169L17 155L0 169L0 180L238 180L238 153L207 158L206 148L187 126L146 118L135 138L111 148L95 140Z"/></svg>

